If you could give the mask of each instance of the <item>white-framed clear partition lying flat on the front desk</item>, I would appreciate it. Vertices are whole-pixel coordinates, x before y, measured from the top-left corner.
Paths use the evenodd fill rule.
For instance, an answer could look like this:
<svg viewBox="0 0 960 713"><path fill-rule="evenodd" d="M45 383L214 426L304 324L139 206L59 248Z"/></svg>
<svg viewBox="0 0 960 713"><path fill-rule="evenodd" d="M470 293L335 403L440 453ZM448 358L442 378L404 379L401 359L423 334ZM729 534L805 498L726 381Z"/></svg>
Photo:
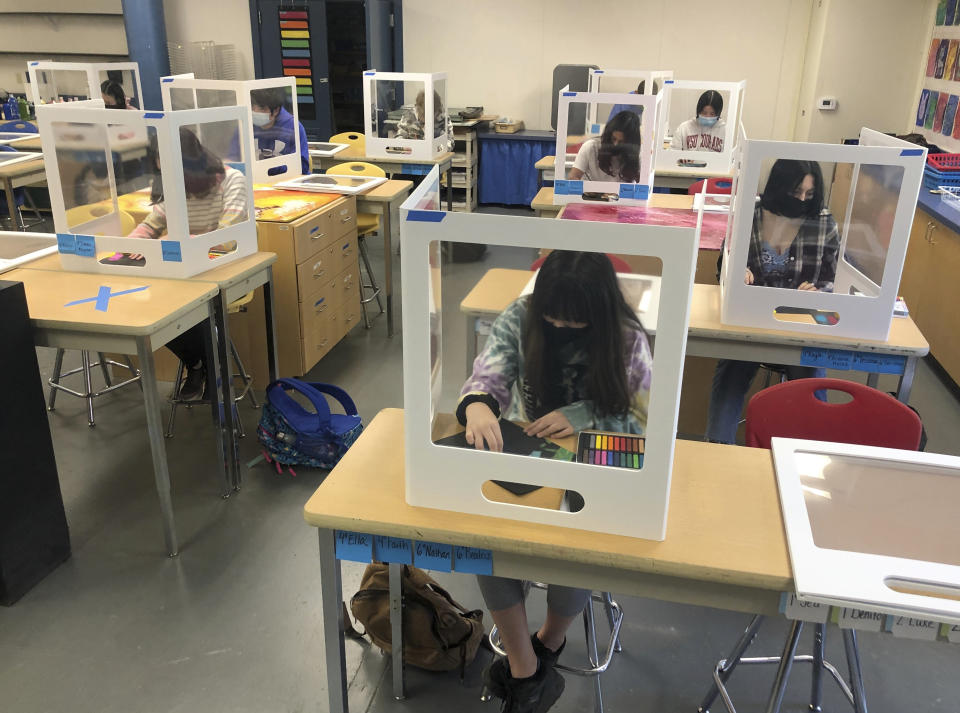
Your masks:
<svg viewBox="0 0 960 713"><path fill-rule="evenodd" d="M797 595L960 623L960 458L774 438Z"/></svg>

